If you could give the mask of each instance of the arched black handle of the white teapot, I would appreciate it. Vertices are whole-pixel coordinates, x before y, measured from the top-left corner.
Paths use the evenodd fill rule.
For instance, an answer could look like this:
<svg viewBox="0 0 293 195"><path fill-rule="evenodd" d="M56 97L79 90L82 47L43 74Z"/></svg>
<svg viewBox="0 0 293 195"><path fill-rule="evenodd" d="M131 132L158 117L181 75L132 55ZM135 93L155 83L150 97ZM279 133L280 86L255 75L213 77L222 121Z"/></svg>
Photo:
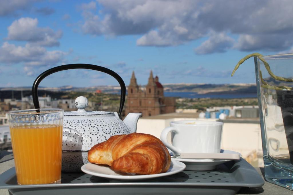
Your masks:
<svg viewBox="0 0 293 195"><path fill-rule="evenodd" d="M125 83L122 80L122 78L115 73L113 70L110 70L108 68L102 67L102 66L97 66L97 65L92 65L92 64L67 64L67 65L61 65L61 66L57 66L54 68L51 68L49 70L46 70L45 72L43 72L42 74L40 74L34 84L33 84L33 103L36 109L40 108L40 104L39 104L39 99L38 99L38 86L40 84L40 82L47 77L48 75L51 75L53 73L62 71L62 70L69 70L69 69L78 69L78 68L84 68L84 69L90 69L90 70L98 70L100 72L103 73L107 73L108 75L113 76L120 84L121 87L121 96L120 96L120 106L119 106L119 113L118 115L120 116L122 113L122 109L124 106L124 102L125 102L125 93L126 93L126 87L125 87Z"/></svg>

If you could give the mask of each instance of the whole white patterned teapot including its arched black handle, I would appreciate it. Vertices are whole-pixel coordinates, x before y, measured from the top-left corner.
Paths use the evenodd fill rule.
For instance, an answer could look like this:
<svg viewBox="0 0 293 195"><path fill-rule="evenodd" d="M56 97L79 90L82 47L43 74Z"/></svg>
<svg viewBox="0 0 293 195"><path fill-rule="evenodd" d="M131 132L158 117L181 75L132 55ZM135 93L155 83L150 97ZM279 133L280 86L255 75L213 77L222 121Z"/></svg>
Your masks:
<svg viewBox="0 0 293 195"><path fill-rule="evenodd" d="M119 112L86 111L88 99L79 96L75 99L77 111L64 112L62 137L62 171L80 172L82 165L88 163L88 150L95 144L108 140L111 136L136 132L137 121L141 113L129 113L125 119L119 116L125 102L125 83L114 71L91 64L68 64L51 68L40 74L33 84L33 103L40 108L38 85L52 73L68 69L98 70L113 76L120 84L121 96Z"/></svg>

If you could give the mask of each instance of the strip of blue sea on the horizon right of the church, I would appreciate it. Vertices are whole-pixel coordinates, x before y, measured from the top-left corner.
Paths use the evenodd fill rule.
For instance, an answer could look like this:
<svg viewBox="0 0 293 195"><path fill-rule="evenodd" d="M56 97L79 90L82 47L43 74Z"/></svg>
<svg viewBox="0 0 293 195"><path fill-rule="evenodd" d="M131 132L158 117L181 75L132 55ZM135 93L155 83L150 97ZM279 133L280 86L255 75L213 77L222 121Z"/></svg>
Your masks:
<svg viewBox="0 0 293 195"><path fill-rule="evenodd" d="M256 93L211 93L198 94L196 92L164 92L165 97L181 97L181 98L214 98L214 99L234 99L234 98L256 98Z"/></svg>

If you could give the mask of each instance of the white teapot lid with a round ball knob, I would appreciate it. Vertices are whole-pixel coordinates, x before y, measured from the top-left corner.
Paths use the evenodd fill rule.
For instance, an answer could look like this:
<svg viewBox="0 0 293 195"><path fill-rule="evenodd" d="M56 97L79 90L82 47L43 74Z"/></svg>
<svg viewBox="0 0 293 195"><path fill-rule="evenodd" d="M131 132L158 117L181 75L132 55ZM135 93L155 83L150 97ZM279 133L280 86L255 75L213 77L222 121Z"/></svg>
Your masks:
<svg viewBox="0 0 293 195"><path fill-rule="evenodd" d="M88 99L84 96L79 96L74 101L77 111L64 112L64 116L81 116L81 115L108 115L114 112L105 111L86 111L85 108L88 106Z"/></svg>

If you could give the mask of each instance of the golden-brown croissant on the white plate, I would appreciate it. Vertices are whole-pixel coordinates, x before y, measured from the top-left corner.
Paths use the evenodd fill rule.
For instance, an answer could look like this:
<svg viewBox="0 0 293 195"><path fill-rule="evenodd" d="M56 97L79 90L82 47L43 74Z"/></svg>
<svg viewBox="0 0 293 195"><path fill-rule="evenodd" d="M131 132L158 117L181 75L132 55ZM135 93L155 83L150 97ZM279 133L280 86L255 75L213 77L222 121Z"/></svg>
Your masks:
<svg viewBox="0 0 293 195"><path fill-rule="evenodd" d="M144 133L112 136L88 151L88 161L109 165L114 171L141 175L166 172L171 164L161 140Z"/></svg>

